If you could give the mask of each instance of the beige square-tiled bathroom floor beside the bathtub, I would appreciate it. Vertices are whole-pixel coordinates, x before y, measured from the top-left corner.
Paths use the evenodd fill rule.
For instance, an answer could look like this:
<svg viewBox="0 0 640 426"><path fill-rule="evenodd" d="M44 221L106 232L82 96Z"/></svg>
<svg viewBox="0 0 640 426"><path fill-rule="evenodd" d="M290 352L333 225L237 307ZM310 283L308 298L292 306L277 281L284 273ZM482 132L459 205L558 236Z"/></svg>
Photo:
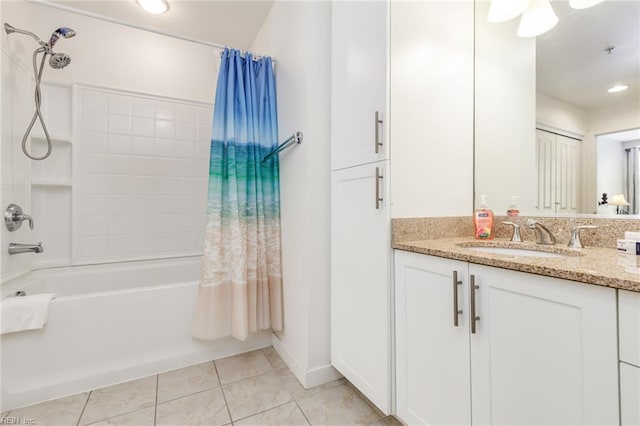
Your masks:
<svg viewBox="0 0 640 426"><path fill-rule="evenodd" d="M0 424L400 425L345 379L304 389L273 348L9 411Z"/></svg>

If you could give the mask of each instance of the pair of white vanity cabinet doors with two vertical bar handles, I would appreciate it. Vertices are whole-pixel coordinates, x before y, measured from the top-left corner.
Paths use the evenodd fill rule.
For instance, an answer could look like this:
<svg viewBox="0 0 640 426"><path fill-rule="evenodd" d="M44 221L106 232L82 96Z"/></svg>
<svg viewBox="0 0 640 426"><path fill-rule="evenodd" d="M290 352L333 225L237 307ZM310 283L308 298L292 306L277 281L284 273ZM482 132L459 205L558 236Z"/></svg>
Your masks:
<svg viewBox="0 0 640 426"><path fill-rule="evenodd" d="M618 424L614 289L402 251L395 276L406 423Z"/></svg>

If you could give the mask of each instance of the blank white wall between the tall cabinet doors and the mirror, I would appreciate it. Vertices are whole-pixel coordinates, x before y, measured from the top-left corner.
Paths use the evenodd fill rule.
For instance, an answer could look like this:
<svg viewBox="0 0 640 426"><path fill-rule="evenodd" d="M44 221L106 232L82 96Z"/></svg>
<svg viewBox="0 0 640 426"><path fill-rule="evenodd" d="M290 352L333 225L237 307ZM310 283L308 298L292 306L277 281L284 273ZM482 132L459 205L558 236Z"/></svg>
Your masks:
<svg viewBox="0 0 640 426"><path fill-rule="evenodd" d="M473 2L392 2L392 217L473 209Z"/></svg>

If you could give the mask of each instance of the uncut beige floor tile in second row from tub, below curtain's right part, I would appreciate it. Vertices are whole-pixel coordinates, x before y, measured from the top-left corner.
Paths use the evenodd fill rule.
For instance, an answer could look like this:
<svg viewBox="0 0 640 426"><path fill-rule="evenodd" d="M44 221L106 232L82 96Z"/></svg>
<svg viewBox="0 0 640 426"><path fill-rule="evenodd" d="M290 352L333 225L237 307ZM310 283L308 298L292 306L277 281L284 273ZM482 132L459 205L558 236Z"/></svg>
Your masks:
<svg viewBox="0 0 640 426"><path fill-rule="evenodd" d="M223 385L222 389L234 421L292 400L275 371Z"/></svg>

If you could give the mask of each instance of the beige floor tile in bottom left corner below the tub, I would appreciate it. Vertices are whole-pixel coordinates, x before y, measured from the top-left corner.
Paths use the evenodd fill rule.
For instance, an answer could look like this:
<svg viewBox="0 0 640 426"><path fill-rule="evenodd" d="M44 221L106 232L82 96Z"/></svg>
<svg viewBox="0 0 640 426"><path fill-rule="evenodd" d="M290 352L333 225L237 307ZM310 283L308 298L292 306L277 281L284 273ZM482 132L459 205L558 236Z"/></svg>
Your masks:
<svg viewBox="0 0 640 426"><path fill-rule="evenodd" d="M38 426L75 425L88 396L89 392L85 392L11 410L8 420L14 422L13 424L28 424L33 421L33 424Z"/></svg>

